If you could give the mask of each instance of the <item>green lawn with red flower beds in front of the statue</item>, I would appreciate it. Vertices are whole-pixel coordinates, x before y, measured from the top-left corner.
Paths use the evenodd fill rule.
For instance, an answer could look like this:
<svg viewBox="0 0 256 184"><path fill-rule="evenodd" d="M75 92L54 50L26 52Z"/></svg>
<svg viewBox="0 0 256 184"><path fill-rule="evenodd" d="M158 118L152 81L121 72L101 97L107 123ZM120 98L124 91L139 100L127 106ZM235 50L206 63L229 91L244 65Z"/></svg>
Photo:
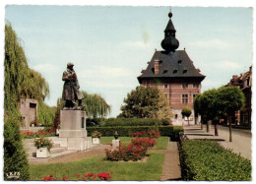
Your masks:
<svg viewBox="0 0 256 184"><path fill-rule="evenodd" d="M133 137L134 135L136 137ZM105 144L111 144L111 140L113 137L100 138L101 143ZM166 149L168 140L168 137L160 137L158 131L137 132L131 134L131 137L120 137L120 147L113 148L112 151L105 150L103 155L70 163L31 164L31 179L160 180L165 153L148 151L158 146L160 149ZM148 157L146 162L138 161L145 156Z"/></svg>

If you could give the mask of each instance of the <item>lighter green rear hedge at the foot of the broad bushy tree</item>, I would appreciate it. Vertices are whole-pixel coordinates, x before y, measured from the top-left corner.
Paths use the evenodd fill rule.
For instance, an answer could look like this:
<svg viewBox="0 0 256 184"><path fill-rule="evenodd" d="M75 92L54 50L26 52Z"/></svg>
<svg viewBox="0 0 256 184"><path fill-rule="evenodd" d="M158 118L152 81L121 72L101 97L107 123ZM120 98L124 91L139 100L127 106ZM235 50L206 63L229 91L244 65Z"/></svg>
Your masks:
<svg viewBox="0 0 256 184"><path fill-rule="evenodd" d="M119 126L158 126L168 125L170 121L153 118L108 118L100 122L103 127Z"/></svg>

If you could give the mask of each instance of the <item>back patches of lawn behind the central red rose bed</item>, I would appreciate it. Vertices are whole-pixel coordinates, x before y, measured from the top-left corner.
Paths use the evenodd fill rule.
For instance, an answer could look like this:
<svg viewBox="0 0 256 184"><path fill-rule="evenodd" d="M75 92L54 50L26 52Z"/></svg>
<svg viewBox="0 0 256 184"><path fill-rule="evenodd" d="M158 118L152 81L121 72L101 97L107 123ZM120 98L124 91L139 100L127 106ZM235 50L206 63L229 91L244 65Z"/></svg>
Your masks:
<svg viewBox="0 0 256 184"><path fill-rule="evenodd" d="M109 145L113 139L114 139L113 137L101 137L100 143L103 145ZM120 142L122 144L128 145L131 143L131 139L135 139L135 138L119 137L118 139L120 140ZM169 141L168 137L160 137L159 139L154 139L154 140L156 140L157 145L154 148L152 148L152 150L166 150L167 149L167 143Z"/></svg>

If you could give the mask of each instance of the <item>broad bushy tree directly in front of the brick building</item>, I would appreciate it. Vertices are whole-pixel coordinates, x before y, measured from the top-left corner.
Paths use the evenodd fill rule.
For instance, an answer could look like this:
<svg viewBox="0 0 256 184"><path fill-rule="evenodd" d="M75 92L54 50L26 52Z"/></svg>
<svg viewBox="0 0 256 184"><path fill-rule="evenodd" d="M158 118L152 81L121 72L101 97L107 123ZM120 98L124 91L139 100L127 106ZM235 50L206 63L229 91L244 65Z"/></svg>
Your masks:
<svg viewBox="0 0 256 184"><path fill-rule="evenodd" d="M158 88L136 87L124 98L121 113L118 117L126 118L163 118L170 119L172 113L166 97Z"/></svg>

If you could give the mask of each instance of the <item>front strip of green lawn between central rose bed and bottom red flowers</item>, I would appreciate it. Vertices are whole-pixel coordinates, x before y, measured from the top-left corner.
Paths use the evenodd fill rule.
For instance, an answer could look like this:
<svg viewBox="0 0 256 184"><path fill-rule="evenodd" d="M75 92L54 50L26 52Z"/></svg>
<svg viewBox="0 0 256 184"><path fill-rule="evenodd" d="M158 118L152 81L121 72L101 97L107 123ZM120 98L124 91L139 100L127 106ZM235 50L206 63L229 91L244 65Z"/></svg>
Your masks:
<svg viewBox="0 0 256 184"><path fill-rule="evenodd" d="M67 176L76 180L76 175L93 172L113 172L112 180L160 180L164 153L150 153L147 162L106 161L104 155L88 157L72 163L54 163L30 165L31 180L42 180L43 176L52 174L62 180Z"/></svg>

